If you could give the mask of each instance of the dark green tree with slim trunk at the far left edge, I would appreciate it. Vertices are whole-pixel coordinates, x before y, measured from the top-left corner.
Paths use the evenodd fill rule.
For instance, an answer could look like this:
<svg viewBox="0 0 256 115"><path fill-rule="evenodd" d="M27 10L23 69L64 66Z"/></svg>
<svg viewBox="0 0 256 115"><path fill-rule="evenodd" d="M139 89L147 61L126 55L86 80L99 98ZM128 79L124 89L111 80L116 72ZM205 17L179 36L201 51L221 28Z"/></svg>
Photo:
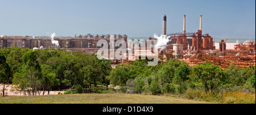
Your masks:
<svg viewBox="0 0 256 115"><path fill-rule="evenodd" d="M6 62L5 56L0 52L0 83L3 84L3 96L5 96L5 84L10 82L11 69Z"/></svg>

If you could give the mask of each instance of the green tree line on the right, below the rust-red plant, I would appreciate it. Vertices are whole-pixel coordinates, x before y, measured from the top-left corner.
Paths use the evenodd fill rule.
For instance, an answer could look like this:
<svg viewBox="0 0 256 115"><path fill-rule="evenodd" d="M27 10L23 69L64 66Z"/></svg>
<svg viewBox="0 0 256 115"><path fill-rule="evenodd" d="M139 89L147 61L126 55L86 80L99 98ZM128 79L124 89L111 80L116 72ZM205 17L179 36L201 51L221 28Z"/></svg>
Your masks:
<svg viewBox="0 0 256 115"><path fill-rule="evenodd" d="M121 86L126 93L184 94L203 92L218 95L223 92L246 92L255 94L255 66L229 67L212 63L188 66L188 63L171 58L156 66L138 60L128 65L118 65L108 76L110 84ZM189 94L190 95L190 94Z"/></svg>

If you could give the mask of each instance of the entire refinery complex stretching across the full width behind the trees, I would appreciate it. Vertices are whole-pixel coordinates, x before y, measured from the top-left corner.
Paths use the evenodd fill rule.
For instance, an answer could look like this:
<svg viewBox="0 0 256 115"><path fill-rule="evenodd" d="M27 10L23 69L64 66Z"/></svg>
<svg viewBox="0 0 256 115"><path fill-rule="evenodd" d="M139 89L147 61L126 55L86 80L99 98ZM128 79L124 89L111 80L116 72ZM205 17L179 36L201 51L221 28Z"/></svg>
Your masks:
<svg viewBox="0 0 256 115"><path fill-rule="evenodd" d="M197 32L186 32L186 15L184 15L183 32L167 34L167 16L163 16L163 36L169 39L166 45L158 46L159 52L154 52L154 40L156 38L148 38L147 42L128 41L127 35L114 35L114 42L124 40L126 44L126 52L122 55L125 59L110 59L112 65L119 63L129 63L136 61L142 57L159 56L159 62L168 61L170 58L183 59L189 65L193 66L197 63L212 62L214 65L221 65L223 68L228 67L229 63L244 67L255 65L255 42L239 43L234 45L234 50L226 49L226 40L221 40L219 48L214 46L215 40L209 33L203 34L203 16L200 16L200 29ZM79 35L75 37L31 37L31 36L1 36L0 48L17 46L19 48L29 49L64 49L68 51L79 51L85 54L97 54L102 46L97 46L99 40L108 41L108 48L113 45L110 35ZM52 41L57 41L54 44ZM150 43L150 44L148 44ZM146 46L153 45L146 48ZM114 51L121 46L115 46ZM161 49L161 50L160 50ZM131 50L131 52L129 52ZM110 52L109 52L110 53ZM157 54L156 54L157 53ZM128 55L126 55L128 54ZM148 56L147 54L150 54ZM110 54L110 56L113 54ZM150 61L150 60L148 60Z"/></svg>

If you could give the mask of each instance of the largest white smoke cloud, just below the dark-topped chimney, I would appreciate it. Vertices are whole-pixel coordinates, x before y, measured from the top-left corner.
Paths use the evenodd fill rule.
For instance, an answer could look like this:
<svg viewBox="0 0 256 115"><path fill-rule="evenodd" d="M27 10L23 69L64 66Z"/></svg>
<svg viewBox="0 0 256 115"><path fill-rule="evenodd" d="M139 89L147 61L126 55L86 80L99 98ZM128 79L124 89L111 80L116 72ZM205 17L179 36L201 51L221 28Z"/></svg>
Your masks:
<svg viewBox="0 0 256 115"><path fill-rule="evenodd" d="M158 36L156 35L156 33L154 33L154 38L158 40L158 42L156 43L155 47L156 48L161 48L161 50L166 49L167 43L171 40L170 39L171 36L167 36L167 35L161 35Z"/></svg>

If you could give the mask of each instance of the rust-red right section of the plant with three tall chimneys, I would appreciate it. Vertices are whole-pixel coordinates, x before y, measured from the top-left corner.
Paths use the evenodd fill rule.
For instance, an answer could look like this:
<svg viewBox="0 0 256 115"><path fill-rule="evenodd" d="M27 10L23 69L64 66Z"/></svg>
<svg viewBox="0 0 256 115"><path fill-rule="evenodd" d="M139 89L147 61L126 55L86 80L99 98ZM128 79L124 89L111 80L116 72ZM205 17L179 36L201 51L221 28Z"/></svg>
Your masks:
<svg viewBox="0 0 256 115"><path fill-rule="evenodd" d="M163 16L163 35L171 36L160 56L167 61L170 58L180 58L193 66L197 63L212 62L214 65L220 65L223 68L228 67L230 63L239 67L255 66L255 42L245 42L234 45L234 50L226 49L226 40L221 40L218 50L214 46L214 39L209 33L203 35L203 16L200 16L200 29L197 32L186 32L186 20L184 15L184 24L182 33L166 34L166 15ZM192 38L192 39L191 39Z"/></svg>

